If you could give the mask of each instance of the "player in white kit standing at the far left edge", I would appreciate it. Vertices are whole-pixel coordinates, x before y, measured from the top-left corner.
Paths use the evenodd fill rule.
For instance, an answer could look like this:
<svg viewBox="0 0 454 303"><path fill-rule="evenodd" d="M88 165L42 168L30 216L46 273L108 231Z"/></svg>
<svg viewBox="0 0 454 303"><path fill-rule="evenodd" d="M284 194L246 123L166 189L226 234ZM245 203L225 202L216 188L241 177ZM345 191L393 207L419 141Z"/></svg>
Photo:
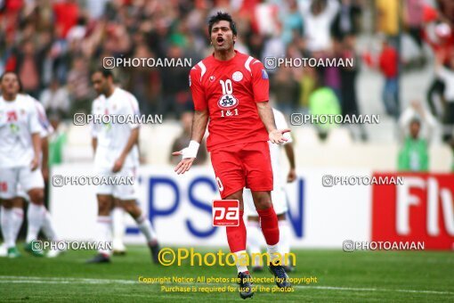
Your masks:
<svg viewBox="0 0 454 303"><path fill-rule="evenodd" d="M36 256L42 250L32 250L31 242L37 239L41 228L50 240L55 240L52 218L44 205L44 179L40 168L41 135L40 112L36 100L19 94L20 80L11 71L0 78L0 225L7 255L20 256L16 239L23 222L23 200L28 197L28 233L25 249Z"/></svg>

